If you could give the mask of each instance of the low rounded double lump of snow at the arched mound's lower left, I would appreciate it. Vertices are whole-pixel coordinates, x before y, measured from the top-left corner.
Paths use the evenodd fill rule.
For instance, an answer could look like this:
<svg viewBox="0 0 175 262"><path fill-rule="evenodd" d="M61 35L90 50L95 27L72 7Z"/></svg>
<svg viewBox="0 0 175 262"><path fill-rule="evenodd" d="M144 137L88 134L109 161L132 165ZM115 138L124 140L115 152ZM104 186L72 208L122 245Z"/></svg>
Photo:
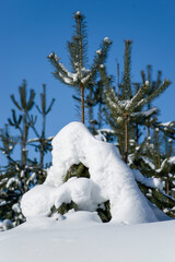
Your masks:
<svg viewBox="0 0 175 262"><path fill-rule="evenodd" d="M96 211L98 203L105 199L101 195L100 187L88 178L71 178L60 187L39 184L23 195L21 207L25 217L50 215L55 205L59 209L62 203L73 201L81 211Z"/></svg>

